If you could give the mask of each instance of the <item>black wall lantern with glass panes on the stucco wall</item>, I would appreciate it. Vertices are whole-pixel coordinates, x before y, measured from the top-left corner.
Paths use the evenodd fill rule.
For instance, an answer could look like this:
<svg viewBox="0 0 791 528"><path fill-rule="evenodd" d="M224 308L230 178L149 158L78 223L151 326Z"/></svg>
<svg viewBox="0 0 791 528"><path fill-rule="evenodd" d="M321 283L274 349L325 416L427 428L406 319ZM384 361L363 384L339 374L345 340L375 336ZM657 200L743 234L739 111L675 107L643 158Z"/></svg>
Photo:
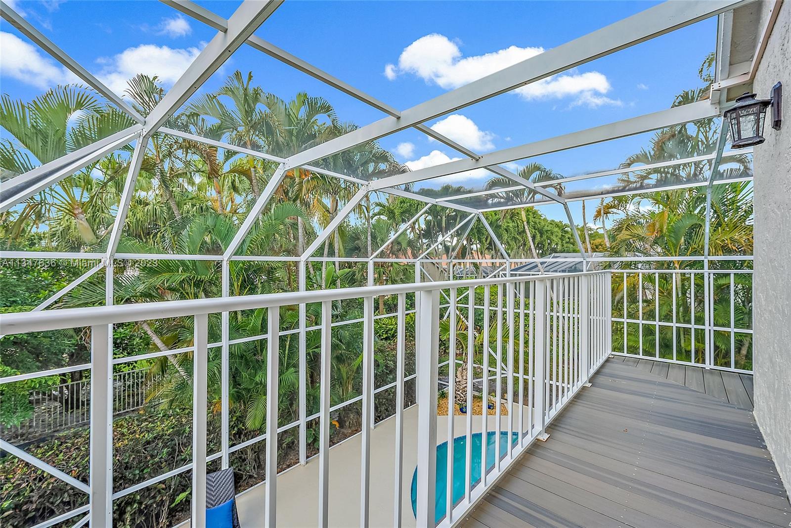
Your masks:
<svg viewBox="0 0 791 528"><path fill-rule="evenodd" d="M780 130L782 122L782 85L774 85L771 99L755 99L755 93L744 92L736 97L736 104L725 111L725 119L731 130L734 149L744 149L763 143L763 124L766 108L772 107L772 128Z"/></svg>

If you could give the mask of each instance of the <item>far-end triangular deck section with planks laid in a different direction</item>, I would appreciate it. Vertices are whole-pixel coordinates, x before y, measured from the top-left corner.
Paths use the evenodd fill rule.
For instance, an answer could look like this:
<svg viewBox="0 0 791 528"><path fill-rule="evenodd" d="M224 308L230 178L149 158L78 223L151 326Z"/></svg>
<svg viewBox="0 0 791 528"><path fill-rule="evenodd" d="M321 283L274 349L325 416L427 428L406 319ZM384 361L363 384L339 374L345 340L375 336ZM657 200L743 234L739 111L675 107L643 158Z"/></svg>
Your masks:
<svg viewBox="0 0 791 528"><path fill-rule="evenodd" d="M646 360L640 357L613 356L611 360L623 361L624 364L709 394L736 407L752 410L752 375Z"/></svg>

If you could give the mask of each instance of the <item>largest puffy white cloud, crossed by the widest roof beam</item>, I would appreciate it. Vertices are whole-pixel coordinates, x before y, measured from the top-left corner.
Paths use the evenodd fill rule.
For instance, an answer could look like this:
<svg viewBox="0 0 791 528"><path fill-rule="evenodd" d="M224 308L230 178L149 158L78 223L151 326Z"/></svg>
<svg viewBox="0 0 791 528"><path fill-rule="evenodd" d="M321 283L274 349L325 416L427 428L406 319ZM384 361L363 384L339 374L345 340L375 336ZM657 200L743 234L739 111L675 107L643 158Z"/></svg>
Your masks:
<svg viewBox="0 0 791 528"><path fill-rule="evenodd" d="M414 74L441 88L454 89L535 57L543 51L543 47L510 46L484 55L462 57L458 44L444 35L432 33L404 48L399 56L398 66L388 64L384 73L390 80L394 80L399 74ZM615 100L594 100L589 96L602 96L610 89L611 85L604 74L596 71L577 74L570 71L533 82L515 92L527 100L577 96L579 104L599 107L602 104L613 104Z"/></svg>

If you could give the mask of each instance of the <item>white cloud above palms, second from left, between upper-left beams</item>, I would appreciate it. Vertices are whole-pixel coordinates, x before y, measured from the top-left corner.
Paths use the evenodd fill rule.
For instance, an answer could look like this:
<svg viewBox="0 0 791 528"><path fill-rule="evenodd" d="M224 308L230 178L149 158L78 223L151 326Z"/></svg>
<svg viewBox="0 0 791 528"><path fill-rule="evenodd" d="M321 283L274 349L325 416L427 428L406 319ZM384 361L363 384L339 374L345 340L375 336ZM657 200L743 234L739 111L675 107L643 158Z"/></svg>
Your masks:
<svg viewBox="0 0 791 528"><path fill-rule="evenodd" d="M197 47L174 48L141 44L112 58L100 58L104 67L97 77L115 93L123 94L127 81L137 74L156 75L162 85L172 85L200 53Z"/></svg>

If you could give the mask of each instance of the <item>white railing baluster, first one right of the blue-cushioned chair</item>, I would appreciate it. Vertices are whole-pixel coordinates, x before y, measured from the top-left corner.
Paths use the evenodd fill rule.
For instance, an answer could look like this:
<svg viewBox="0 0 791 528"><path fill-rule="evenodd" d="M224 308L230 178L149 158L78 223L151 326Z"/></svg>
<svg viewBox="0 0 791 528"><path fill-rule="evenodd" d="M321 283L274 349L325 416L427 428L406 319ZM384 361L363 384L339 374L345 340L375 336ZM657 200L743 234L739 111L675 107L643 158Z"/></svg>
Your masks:
<svg viewBox="0 0 791 528"><path fill-rule="evenodd" d="M264 525L277 526L278 519L278 395L280 390L280 307L267 316L267 492Z"/></svg>

